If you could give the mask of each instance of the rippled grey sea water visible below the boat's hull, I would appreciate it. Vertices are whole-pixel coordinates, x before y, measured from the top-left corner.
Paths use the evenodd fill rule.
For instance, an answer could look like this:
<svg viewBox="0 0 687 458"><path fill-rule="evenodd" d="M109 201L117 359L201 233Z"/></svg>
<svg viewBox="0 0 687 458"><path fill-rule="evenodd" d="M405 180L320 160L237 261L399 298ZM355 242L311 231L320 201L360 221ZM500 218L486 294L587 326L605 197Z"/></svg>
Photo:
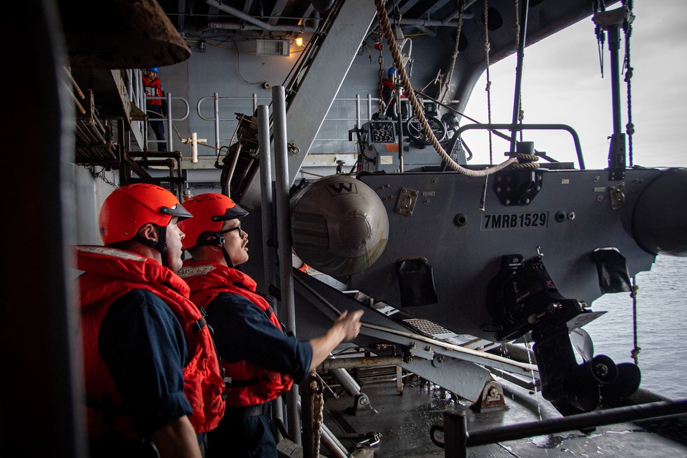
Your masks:
<svg viewBox="0 0 687 458"><path fill-rule="evenodd" d="M640 387L673 399L687 398L687 257L659 255L651 271L639 273L637 294ZM616 363L631 363L632 298L629 293L603 295L592 310L607 314L585 325L594 354Z"/></svg>

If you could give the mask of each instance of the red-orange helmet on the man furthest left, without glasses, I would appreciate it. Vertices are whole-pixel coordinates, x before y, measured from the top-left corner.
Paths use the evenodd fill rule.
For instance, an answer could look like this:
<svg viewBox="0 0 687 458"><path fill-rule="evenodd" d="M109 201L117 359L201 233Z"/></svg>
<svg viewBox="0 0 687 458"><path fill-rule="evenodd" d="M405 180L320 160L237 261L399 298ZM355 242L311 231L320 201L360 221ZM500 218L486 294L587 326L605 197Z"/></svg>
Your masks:
<svg viewBox="0 0 687 458"><path fill-rule="evenodd" d="M137 183L114 190L100 209L100 237L106 245L133 238L142 225L166 227L172 217L191 218L174 194L164 187Z"/></svg>

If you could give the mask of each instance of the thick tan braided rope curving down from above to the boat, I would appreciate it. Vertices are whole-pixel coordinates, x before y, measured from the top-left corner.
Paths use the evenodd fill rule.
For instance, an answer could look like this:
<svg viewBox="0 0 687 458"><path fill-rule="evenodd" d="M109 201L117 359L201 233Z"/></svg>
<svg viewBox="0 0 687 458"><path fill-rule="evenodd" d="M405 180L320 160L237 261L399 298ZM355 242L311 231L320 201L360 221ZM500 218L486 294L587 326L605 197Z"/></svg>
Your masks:
<svg viewBox="0 0 687 458"><path fill-rule="evenodd" d="M413 113L416 115L416 119L420 122L420 126L423 127L427 139L429 139L431 146L436 150L441 159L449 165L450 168L455 170L460 174L466 176L487 176L502 170L508 165L517 163L517 159L511 158L508 161L495 165L494 167L486 168L484 170L469 170L461 167L458 163L453 161L449 154L444 151L436 136L431 131L429 123L427 122L427 117L425 117L425 108L420 105L418 98L415 96L415 91L413 90L412 84L408 79L408 75L403 67L403 60L401 59L401 51L398 50L396 46L396 38L394 38L394 32L392 31L391 24L389 23L389 17L387 16L386 10L384 9L383 0L374 0L374 4L377 7L377 15L379 16L379 25L384 31L384 35L387 39L387 45L389 45L391 54L394 58L394 66L398 68L399 73L401 73L401 81L403 82L403 87L405 87L405 92L407 93L408 100L413 107Z"/></svg>

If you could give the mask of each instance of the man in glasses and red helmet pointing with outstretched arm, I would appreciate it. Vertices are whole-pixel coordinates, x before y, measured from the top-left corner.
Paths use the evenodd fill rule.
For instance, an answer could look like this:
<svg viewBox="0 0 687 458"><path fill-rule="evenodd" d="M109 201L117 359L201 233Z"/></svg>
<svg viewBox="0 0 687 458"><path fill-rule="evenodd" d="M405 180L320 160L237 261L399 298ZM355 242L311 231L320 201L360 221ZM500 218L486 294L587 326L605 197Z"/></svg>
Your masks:
<svg viewBox="0 0 687 458"><path fill-rule="evenodd" d="M298 341L284 330L254 279L236 269L248 260L248 212L223 194L200 194L183 203L194 218L179 227L192 255L179 275L207 322L225 368L227 411L208 436L208 457L276 457L270 401L300 382L342 341L360 330L362 311L344 312L323 335Z"/></svg>

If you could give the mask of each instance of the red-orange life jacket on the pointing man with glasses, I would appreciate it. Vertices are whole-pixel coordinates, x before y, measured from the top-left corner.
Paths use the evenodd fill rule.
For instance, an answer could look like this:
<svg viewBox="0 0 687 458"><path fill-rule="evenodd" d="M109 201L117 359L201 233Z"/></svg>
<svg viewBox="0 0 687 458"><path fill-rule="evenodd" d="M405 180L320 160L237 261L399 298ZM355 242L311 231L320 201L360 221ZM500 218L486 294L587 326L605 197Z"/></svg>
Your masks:
<svg viewBox="0 0 687 458"><path fill-rule="evenodd" d="M256 282L243 272L214 262L185 260L179 275L191 288L191 300L203 309L219 293L241 295L260 308L270 323L282 330L271 306L256 293ZM293 385L288 374L270 371L246 360L227 363L223 360L225 376L231 378L227 389L227 407L245 407L269 402Z"/></svg>

